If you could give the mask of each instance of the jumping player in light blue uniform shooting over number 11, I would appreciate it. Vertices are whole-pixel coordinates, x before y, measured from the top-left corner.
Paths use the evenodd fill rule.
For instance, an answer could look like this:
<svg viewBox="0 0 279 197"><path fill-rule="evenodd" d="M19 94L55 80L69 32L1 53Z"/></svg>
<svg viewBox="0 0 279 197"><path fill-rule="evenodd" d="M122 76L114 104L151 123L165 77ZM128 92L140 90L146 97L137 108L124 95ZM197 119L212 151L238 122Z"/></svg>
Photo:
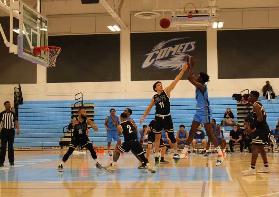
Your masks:
<svg viewBox="0 0 279 197"><path fill-rule="evenodd" d="M187 61L189 62L189 56L187 55ZM223 163L224 158L226 157L226 153L221 151L221 148L218 144L217 139L214 137L214 135L211 132L211 115L212 110L210 107L210 102L208 100L208 92L207 92L207 85L206 82L209 81L209 76L204 73L200 72L199 76L196 78L193 73L193 67L196 60L193 60L193 56L191 56L189 66L188 66L188 80L196 87L196 100L197 100L197 112L194 115L192 126L190 129L189 137L185 143L184 149L181 154L176 155L173 157L173 159L187 159L187 152L188 148L193 141L194 135L199 127L200 124L204 125L204 128L206 130L206 135L211 139L213 142L216 150L218 151L218 158L216 161L216 165L220 165Z"/></svg>

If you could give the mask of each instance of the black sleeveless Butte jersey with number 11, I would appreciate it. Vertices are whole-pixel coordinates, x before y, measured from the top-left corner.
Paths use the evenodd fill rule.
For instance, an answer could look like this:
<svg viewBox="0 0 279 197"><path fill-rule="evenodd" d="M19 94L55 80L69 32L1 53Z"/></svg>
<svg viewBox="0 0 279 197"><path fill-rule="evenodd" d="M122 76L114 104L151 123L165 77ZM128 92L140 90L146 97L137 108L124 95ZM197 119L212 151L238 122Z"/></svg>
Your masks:
<svg viewBox="0 0 279 197"><path fill-rule="evenodd" d="M167 115L170 113L170 98L166 95L165 90L160 94L155 94L153 101L156 106L156 114Z"/></svg>

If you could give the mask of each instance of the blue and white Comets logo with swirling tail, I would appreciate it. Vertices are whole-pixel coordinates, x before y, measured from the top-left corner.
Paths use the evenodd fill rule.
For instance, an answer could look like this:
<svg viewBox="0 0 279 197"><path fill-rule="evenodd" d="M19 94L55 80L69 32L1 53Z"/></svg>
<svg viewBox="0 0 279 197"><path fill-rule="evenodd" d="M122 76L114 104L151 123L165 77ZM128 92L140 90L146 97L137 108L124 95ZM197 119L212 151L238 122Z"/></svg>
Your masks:
<svg viewBox="0 0 279 197"><path fill-rule="evenodd" d="M197 41L187 41L176 45L170 44L171 42L185 40L186 38L188 37L174 38L160 42L153 47L150 53L144 55L146 58L141 68L146 69L150 66L155 66L159 69L171 68L172 70L181 70L186 60L185 55L189 55L188 52L195 50Z"/></svg>

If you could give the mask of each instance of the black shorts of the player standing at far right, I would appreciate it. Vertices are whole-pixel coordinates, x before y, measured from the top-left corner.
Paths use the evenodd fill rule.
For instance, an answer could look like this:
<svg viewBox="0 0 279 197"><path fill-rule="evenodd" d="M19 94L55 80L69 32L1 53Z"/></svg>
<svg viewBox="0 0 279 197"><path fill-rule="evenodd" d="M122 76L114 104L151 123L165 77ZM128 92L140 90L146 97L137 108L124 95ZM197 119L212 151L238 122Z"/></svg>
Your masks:
<svg viewBox="0 0 279 197"><path fill-rule="evenodd" d="M252 138L252 144L257 146L264 146L268 142L269 127L257 127Z"/></svg>

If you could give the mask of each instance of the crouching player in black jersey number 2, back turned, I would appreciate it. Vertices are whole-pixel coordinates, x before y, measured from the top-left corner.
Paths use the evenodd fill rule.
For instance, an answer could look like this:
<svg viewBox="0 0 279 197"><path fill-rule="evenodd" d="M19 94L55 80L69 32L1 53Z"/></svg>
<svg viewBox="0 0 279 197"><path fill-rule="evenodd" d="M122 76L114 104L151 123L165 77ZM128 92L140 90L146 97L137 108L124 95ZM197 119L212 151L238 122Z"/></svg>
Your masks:
<svg viewBox="0 0 279 197"><path fill-rule="evenodd" d="M113 154L113 163L107 167L104 167L104 169L107 171L115 171L116 161L119 159L121 151L129 152L130 150L133 150L140 157L140 159L144 161L144 164L147 166L147 170L149 172L155 173L156 170L150 166L148 159L146 159L144 156L145 151L139 143L134 125L131 123L131 121L127 120L127 114L123 112L120 115L120 120L120 125L116 125L115 120L113 120L113 124L117 128L117 134L119 136L123 134L124 142L118 146L117 149L115 149Z"/></svg>

